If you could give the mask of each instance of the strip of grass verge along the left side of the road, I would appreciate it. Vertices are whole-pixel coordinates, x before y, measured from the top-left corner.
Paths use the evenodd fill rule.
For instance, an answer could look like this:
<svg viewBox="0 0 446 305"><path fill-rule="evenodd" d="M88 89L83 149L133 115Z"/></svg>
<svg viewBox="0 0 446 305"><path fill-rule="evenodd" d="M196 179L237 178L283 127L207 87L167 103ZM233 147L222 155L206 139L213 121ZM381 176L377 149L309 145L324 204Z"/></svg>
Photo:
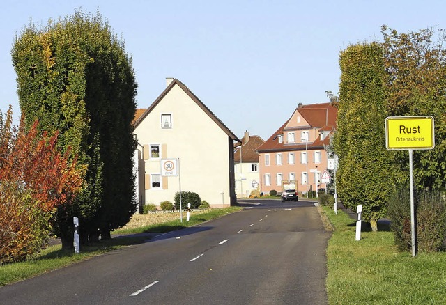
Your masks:
<svg viewBox="0 0 446 305"><path fill-rule="evenodd" d="M199 214L197 217L192 217L188 222L183 219L183 223L180 223L179 220L171 221L151 227L138 228L135 230L117 230L116 233L168 232L171 230L178 230L180 228L201 224L203 221L209 221L211 219L222 217L226 214L237 212L238 210L240 210L239 207L213 209L210 212ZM121 237L113 238L112 240L103 240L97 244L92 244L91 246L82 246L81 253L79 254L73 253L74 251L61 249L61 245L51 246L40 252L36 258L31 258L21 263L0 265L0 286L29 279L33 276L44 274L55 269L60 269L61 267L66 267L82 260L99 256L108 251L121 249L122 247L131 244L139 244L144 240L147 240L147 237Z"/></svg>

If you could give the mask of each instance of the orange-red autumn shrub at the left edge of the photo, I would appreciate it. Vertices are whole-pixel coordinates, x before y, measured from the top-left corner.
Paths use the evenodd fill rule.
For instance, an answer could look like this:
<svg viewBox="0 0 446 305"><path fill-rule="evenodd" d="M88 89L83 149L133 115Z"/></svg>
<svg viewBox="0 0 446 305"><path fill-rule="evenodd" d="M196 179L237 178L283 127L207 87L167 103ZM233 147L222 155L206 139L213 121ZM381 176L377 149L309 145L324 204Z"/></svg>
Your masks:
<svg viewBox="0 0 446 305"><path fill-rule="evenodd" d="M82 167L56 148L58 134L13 126L0 115L0 263L24 260L43 247L52 216L82 187Z"/></svg>

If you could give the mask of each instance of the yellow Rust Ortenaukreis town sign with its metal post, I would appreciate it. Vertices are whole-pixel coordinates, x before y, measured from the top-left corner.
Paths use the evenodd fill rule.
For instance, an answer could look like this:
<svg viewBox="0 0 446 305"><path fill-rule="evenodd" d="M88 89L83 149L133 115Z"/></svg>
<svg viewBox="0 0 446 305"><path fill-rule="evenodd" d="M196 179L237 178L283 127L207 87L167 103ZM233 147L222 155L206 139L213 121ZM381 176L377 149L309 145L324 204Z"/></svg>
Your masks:
<svg viewBox="0 0 446 305"><path fill-rule="evenodd" d="M435 147L432 116L389 116L385 119L385 146L388 150L409 151L410 230L412 256L417 256L415 230L415 203L413 198L413 150Z"/></svg>

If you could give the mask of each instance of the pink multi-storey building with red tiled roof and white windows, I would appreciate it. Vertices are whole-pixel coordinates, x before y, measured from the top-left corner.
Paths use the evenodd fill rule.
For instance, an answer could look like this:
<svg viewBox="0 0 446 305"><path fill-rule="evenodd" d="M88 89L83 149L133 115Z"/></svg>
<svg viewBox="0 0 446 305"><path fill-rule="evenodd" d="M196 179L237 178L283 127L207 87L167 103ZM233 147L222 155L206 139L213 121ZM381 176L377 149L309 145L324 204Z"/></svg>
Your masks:
<svg viewBox="0 0 446 305"><path fill-rule="evenodd" d="M282 191L282 183L295 181L306 193L325 187L321 174L327 169L324 145L336 129L337 108L330 103L299 104L284 125L257 148L261 191Z"/></svg>

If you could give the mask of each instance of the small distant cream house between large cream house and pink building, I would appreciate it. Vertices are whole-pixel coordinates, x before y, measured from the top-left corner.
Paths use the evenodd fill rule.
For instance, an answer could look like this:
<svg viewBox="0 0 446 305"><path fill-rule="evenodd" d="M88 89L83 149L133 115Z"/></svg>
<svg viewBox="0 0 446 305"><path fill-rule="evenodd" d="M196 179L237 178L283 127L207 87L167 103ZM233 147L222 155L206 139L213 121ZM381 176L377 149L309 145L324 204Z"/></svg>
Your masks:
<svg viewBox="0 0 446 305"><path fill-rule="evenodd" d="M242 143L236 146L234 172L237 198L248 198L252 191L259 190L259 153L256 149L264 142L260 136L249 136L249 132L245 132Z"/></svg>

